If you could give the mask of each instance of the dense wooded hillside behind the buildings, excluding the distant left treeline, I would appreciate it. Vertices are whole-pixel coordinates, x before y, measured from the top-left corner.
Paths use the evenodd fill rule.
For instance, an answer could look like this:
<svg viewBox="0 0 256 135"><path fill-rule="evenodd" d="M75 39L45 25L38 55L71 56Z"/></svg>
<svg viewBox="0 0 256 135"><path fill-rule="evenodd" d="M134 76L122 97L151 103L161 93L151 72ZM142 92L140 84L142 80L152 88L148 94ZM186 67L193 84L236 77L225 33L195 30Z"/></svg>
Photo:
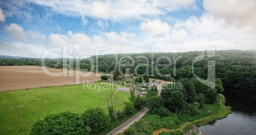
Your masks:
<svg viewBox="0 0 256 135"><path fill-rule="evenodd" d="M127 53L118 54L118 64L132 64L129 66L131 74L136 71L139 75L149 75L150 78L172 81L180 78L192 78L193 60L202 52L180 52L180 53ZM206 52L204 52L206 54ZM124 58L125 57L125 58ZM159 59L161 57L161 59ZM155 66L157 64L171 64L169 66ZM96 56L92 56L96 62ZM82 60L83 68L90 70L89 59ZM157 59L159 59L157 61ZM133 60L133 61L132 61ZM148 60L148 61L146 61ZM174 62L176 60L176 63ZM215 57L200 60L194 64L194 73L206 80L208 77L208 61L215 60L216 78L220 78L224 87L249 88L256 89L256 50L220 50L215 52ZM99 55L98 70L104 73L110 73L115 69L115 55ZM148 73L146 67L148 66ZM153 66L153 70L152 70ZM96 67L96 64L95 66ZM120 66L124 73L125 66ZM175 69L176 68L176 69ZM159 71L159 73L157 72ZM176 75L174 75L176 70ZM153 73L152 73L153 72ZM165 75L165 76L163 76Z"/></svg>

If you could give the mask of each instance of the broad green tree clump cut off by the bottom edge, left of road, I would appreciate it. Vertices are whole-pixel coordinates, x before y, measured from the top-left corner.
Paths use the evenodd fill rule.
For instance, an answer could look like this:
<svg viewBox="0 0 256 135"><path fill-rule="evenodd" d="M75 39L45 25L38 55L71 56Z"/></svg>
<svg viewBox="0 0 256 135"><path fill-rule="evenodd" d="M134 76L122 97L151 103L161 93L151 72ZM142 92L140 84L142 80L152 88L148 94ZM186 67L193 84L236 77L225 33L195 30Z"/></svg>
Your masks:
<svg viewBox="0 0 256 135"><path fill-rule="evenodd" d="M44 120L37 120L31 127L30 134L84 134L83 119L75 113L66 111L47 115Z"/></svg>

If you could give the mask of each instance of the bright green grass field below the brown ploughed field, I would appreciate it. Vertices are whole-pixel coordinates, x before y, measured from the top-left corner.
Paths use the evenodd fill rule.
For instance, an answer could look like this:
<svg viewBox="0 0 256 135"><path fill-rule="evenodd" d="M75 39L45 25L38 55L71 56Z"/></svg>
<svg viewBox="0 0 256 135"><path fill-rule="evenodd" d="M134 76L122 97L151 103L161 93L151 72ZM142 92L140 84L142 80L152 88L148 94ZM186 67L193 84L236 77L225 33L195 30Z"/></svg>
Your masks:
<svg viewBox="0 0 256 135"><path fill-rule="evenodd" d="M107 112L104 96L107 90L116 89L116 84L99 82L0 92L0 134L29 134L32 124L50 113L69 110L81 114L87 108L96 107L101 107ZM128 93L118 91L117 94L120 102L129 101ZM22 131L19 105L23 105ZM124 104L120 105L117 110L122 110L123 106Z"/></svg>

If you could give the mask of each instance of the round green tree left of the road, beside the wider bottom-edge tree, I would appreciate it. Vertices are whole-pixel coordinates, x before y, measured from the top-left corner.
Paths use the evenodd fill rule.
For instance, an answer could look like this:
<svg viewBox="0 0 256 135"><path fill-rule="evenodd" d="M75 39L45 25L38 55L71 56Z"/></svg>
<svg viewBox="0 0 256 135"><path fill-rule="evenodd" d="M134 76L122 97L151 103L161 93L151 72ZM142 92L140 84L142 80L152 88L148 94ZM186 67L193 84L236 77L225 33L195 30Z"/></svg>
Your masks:
<svg viewBox="0 0 256 135"><path fill-rule="evenodd" d="M99 132L110 124L110 117L101 108L89 108L81 115L84 125L90 127L91 132Z"/></svg>

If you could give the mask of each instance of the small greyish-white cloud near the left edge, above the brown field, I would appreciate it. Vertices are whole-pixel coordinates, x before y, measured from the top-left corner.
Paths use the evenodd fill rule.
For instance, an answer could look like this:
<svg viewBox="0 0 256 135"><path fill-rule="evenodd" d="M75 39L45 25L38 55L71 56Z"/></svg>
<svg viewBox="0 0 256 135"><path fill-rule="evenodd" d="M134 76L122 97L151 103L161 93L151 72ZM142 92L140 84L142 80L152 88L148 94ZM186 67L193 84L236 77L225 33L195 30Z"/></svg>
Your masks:
<svg viewBox="0 0 256 135"><path fill-rule="evenodd" d="M18 24L10 24L6 25L6 31L15 39L19 39L20 41L26 42L27 36L25 35L24 29L21 25Z"/></svg>

